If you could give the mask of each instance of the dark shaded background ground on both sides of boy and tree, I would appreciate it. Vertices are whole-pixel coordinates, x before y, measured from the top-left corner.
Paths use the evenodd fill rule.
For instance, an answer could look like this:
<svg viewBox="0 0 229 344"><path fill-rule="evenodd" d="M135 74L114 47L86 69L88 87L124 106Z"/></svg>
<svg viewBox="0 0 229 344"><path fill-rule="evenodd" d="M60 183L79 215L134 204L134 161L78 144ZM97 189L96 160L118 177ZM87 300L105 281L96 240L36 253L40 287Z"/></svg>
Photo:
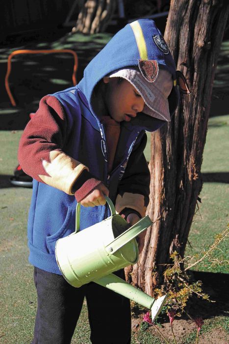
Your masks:
<svg viewBox="0 0 229 344"><path fill-rule="evenodd" d="M120 23L121 25L122 23ZM156 22L164 30L165 20ZM7 71L7 57L18 49L72 49L78 56L77 82L83 76L83 70L89 61L97 55L119 27L110 27L106 33L94 35L72 34L69 28L45 32L40 30L29 35L14 34L7 37L0 49L0 130L22 130L29 120L28 115L35 112L40 99L73 86L72 73L74 60L70 54L17 55L12 58L9 85L16 101L12 107L3 79ZM229 31L229 30L228 30ZM226 32L224 41L228 39ZM211 99L211 115L227 115L229 102L229 47L222 47L218 60L214 88Z"/></svg>

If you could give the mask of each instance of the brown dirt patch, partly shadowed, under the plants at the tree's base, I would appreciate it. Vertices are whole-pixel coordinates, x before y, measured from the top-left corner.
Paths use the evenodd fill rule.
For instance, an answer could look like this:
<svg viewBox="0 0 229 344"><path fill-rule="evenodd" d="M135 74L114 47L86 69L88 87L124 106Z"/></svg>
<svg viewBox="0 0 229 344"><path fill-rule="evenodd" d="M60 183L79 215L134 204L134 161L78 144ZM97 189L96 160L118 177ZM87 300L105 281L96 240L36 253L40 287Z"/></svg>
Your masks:
<svg viewBox="0 0 229 344"><path fill-rule="evenodd" d="M194 280L203 282L203 291L208 294L211 301L213 301L209 302L196 296L193 296L188 301L186 312L191 318L195 319L201 317L204 319L204 326L200 332L198 343L228 344L229 334L226 329L223 328L223 325L224 321L226 321L229 309L229 274L200 271L192 271L192 274ZM147 328L147 324L143 322L143 314L146 312L146 309L142 309L132 304L133 333L137 334L138 331L143 330L160 338L160 334L155 332L154 326ZM162 322L161 326L158 326L160 332L168 339L169 343L174 343L168 316L166 314L161 315L160 321ZM142 322L143 324L141 324ZM178 344L195 343L197 327L195 322L185 313L181 318L175 316L173 329Z"/></svg>

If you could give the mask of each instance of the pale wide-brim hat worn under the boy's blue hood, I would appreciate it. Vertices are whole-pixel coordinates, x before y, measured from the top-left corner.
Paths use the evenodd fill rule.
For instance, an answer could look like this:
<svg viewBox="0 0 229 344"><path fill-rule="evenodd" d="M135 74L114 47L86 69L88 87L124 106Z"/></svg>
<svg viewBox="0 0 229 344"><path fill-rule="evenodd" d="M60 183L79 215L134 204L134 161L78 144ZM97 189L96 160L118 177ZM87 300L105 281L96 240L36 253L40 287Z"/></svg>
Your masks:
<svg viewBox="0 0 229 344"><path fill-rule="evenodd" d="M170 121L168 96L173 88L172 75L158 68L153 82L148 81L136 67L118 69L108 75L110 78L124 78L132 84L144 99L143 113L152 117Z"/></svg>

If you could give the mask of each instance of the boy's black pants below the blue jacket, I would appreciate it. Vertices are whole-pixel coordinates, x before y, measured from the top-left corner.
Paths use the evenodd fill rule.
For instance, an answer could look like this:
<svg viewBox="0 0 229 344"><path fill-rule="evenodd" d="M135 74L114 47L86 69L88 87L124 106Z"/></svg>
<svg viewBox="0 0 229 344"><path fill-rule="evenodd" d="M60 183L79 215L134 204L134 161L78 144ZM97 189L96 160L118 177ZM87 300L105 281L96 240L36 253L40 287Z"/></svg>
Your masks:
<svg viewBox="0 0 229 344"><path fill-rule="evenodd" d="M116 274L124 278L124 271ZM34 268L37 289L37 314L32 344L70 344L84 297L87 300L91 342L93 344L130 344L130 303L96 283L79 288L63 276Z"/></svg>

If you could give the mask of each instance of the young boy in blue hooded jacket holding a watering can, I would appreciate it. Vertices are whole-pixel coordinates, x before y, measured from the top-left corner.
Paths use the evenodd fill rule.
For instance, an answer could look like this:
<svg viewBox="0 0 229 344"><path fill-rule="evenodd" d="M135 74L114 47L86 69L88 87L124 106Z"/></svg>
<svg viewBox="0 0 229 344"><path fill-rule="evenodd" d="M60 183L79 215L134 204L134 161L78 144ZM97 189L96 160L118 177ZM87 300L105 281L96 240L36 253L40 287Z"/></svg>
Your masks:
<svg viewBox="0 0 229 344"><path fill-rule="evenodd" d="M68 344L84 297L93 344L130 343L129 300L89 283L70 286L55 243L109 216L104 195L130 225L145 215L150 173L145 131L170 121L178 104L176 68L152 20L119 31L89 63L80 83L45 96L25 128L19 162L34 178L28 217L29 261L38 295L32 343ZM85 243L86 245L86 243ZM144 235L139 237L139 251ZM124 278L124 271L117 274Z"/></svg>

